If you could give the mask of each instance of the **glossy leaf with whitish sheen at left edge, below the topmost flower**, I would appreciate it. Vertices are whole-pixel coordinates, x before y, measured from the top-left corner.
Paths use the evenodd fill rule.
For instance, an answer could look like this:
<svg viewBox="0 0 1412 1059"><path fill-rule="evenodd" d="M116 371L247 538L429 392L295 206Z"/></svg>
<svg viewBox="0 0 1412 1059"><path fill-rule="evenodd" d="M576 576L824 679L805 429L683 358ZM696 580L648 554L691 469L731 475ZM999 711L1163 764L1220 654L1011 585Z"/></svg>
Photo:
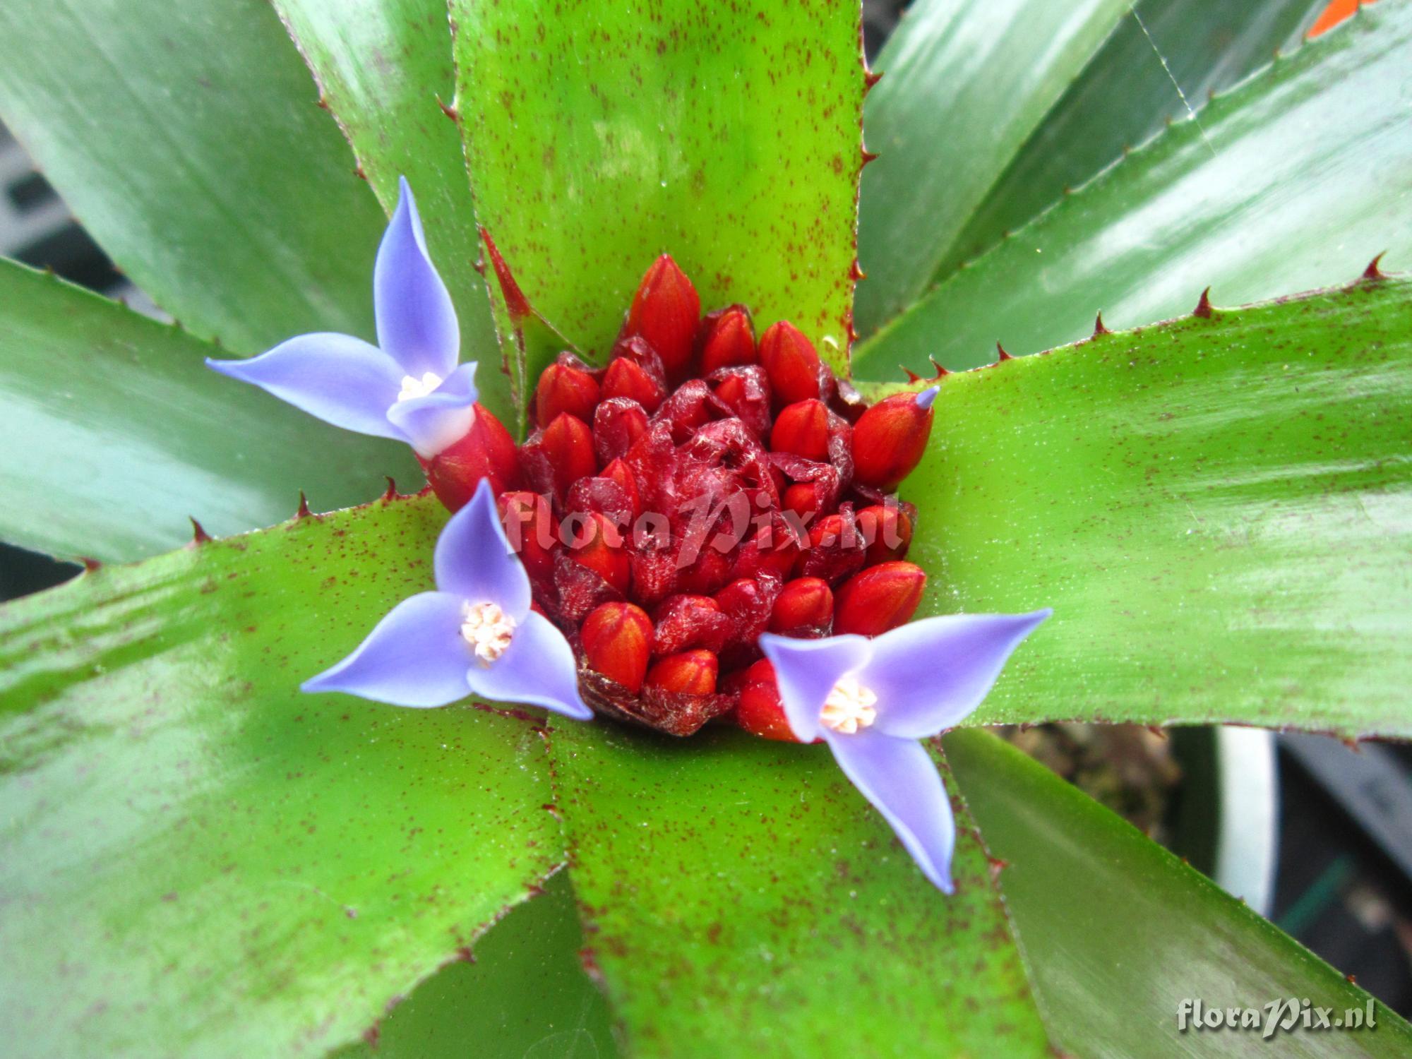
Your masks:
<svg viewBox="0 0 1412 1059"><path fill-rule="evenodd" d="M134 559L418 481L405 446L359 438L210 371L176 328L0 260L0 537Z"/></svg>

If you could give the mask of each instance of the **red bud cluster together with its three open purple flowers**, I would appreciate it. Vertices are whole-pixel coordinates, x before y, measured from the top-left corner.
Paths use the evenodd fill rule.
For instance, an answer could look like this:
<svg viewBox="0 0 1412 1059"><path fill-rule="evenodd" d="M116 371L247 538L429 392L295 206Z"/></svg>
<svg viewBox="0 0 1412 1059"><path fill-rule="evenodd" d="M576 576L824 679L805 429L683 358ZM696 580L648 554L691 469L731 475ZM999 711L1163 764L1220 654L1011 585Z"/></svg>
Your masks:
<svg viewBox="0 0 1412 1059"><path fill-rule="evenodd" d="M377 346L313 333L208 361L407 442L453 513L435 589L302 688L419 707L474 693L672 736L722 722L822 741L950 892L950 802L918 740L967 717L1049 611L911 621L926 575L904 558L916 511L894 490L926 449L938 387L870 407L788 321L757 340L743 305L702 315L664 254L606 366L565 352L539 376L515 445L477 402L476 364L459 363L405 181L373 301Z"/></svg>

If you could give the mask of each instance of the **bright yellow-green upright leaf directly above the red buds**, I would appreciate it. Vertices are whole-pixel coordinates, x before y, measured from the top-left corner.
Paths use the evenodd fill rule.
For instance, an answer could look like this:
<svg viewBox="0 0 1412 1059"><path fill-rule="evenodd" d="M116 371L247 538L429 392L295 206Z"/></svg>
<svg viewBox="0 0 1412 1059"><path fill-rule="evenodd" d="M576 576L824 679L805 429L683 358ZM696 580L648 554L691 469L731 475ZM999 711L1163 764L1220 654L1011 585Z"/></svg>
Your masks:
<svg viewBox="0 0 1412 1059"><path fill-rule="evenodd" d="M480 222L530 302L607 352L652 258L847 349L858 8L453 0ZM531 373L542 366L531 364Z"/></svg>

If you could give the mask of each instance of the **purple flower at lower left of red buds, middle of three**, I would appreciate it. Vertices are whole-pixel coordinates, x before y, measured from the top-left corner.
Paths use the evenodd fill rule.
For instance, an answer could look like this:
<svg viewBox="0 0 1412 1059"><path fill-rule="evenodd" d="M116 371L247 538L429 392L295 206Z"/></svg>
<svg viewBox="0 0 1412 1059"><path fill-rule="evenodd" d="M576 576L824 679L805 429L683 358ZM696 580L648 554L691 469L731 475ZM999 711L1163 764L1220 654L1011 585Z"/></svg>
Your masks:
<svg viewBox="0 0 1412 1059"><path fill-rule="evenodd" d="M510 549L490 483L436 541L436 592L393 607L357 650L305 681L397 706L445 706L474 693L590 720L569 641L530 610L530 578Z"/></svg>

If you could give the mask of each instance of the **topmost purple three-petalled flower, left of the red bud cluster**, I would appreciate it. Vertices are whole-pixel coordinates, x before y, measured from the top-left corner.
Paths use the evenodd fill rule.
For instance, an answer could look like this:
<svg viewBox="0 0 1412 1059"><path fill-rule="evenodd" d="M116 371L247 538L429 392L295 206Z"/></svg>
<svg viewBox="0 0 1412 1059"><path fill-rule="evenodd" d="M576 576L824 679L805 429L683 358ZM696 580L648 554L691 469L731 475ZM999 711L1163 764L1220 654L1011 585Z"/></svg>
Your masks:
<svg viewBox="0 0 1412 1059"><path fill-rule="evenodd" d="M318 332L250 360L210 360L222 374L335 426L405 441L431 459L476 418L476 364L460 364L460 329L446 285L426 254L407 178L373 267L377 346Z"/></svg>

